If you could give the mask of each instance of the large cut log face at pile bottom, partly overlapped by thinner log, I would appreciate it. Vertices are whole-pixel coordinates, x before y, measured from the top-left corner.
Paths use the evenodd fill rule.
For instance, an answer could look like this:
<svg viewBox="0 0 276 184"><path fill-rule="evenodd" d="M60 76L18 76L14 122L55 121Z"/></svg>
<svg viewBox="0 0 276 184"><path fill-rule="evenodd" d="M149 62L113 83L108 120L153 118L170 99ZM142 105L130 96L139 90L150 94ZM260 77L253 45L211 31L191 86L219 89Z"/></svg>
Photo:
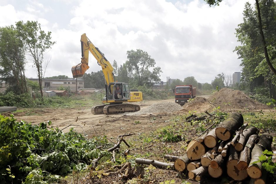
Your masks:
<svg viewBox="0 0 276 184"><path fill-rule="evenodd" d="M245 178L247 178L248 174L246 169L244 170L238 170L237 168L238 160L230 160L227 162L227 174L231 178L237 181L242 181Z"/></svg>

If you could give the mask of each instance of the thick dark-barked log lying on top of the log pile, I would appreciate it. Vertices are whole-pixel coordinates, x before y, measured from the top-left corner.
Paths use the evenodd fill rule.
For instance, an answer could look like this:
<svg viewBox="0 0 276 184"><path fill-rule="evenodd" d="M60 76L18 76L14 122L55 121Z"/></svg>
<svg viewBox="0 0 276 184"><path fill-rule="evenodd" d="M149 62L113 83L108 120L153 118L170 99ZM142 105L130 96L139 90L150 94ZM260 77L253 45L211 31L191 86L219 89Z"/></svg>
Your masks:
<svg viewBox="0 0 276 184"><path fill-rule="evenodd" d="M243 125L243 116L240 113L233 113L230 117L225 119L218 127L216 128L216 136L218 139L227 141L230 139L240 126Z"/></svg>

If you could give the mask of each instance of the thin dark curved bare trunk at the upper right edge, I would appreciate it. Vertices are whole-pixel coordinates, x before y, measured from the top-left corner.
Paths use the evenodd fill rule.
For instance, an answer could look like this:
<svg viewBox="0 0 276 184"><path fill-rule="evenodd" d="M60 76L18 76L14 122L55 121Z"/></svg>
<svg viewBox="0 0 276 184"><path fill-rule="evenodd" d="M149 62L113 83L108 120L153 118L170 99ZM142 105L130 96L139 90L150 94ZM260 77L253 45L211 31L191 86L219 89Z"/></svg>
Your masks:
<svg viewBox="0 0 276 184"><path fill-rule="evenodd" d="M267 62L267 65L270 67L271 71L274 73L274 75L276 75L276 70L272 66L272 64L270 62L270 59L269 59L269 55L267 53L267 47L266 47L266 43L265 43L265 36L264 36L264 32L262 31L262 18L261 18L261 11L260 11L260 5L259 5L259 1L258 0L256 0L256 6L257 6L257 10L258 10L259 31L260 31L262 46L263 46L263 49L264 49L265 60Z"/></svg>

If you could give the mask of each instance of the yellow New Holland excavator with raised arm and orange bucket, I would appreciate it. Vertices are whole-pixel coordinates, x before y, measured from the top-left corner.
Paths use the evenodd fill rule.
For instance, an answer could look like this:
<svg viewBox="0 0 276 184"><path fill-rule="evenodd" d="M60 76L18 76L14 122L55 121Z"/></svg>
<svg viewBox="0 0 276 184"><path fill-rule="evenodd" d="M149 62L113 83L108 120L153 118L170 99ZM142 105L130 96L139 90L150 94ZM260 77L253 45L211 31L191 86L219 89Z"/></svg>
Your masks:
<svg viewBox="0 0 276 184"><path fill-rule="evenodd" d="M130 90L129 85L124 82L115 81L113 67L105 58L105 55L87 38L84 33L80 39L82 58L81 63L72 67L73 78L82 77L88 66L89 51L96 58L98 65L102 67L105 76L105 97L102 99L104 105L92 107L92 114L119 114L124 112L136 112L140 110L137 104L124 102L139 102L143 100L142 92ZM115 94L115 90L120 90L120 94Z"/></svg>

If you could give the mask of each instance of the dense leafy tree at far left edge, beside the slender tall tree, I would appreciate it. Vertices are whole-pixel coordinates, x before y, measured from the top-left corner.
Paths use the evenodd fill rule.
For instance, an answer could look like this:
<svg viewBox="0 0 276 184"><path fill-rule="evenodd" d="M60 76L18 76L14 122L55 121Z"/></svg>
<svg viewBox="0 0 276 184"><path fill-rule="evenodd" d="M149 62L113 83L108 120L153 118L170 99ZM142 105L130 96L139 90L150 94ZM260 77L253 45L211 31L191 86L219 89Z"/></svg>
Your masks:
<svg viewBox="0 0 276 184"><path fill-rule="evenodd" d="M14 26L0 28L0 75L18 94L28 92L25 63L25 49Z"/></svg>

